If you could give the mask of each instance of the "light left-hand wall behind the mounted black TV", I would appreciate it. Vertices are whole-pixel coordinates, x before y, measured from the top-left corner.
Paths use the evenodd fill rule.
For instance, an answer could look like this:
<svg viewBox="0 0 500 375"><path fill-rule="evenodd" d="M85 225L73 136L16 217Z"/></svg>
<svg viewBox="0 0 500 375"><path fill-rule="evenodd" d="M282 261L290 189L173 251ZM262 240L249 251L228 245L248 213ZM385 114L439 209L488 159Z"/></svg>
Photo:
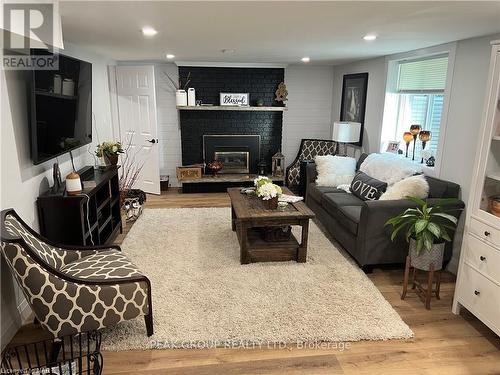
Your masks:
<svg viewBox="0 0 500 375"><path fill-rule="evenodd" d="M111 137L111 111L107 86L106 66L108 59L88 53L76 46L65 43L62 53L92 63L92 110L95 113L94 144L99 137ZM29 72L2 71L1 82L1 179L0 207L13 207L34 229L38 229L36 198L52 185L52 164L55 160L33 165L30 159L28 133L28 103L26 101L26 80ZM94 150L94 146L90 147ZM93 165L93 157L87 146L76 150L75 167ZM57 158L62 176L71 171L69 155ZM1 283L1 345L5 345L21 323L21 312L29 313L24 297L9 276L2 259Z"/></svg>

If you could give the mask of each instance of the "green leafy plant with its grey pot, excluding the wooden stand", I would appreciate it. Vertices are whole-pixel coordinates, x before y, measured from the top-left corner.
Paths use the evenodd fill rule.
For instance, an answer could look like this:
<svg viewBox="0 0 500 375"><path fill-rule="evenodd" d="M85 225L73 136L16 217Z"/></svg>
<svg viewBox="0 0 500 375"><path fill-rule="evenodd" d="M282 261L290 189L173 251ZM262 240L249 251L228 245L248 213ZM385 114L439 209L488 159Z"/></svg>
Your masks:
<svg viewBox="0 0 500 375"><path fill-rule="evenodd" d="M389 219L386 225L392 225L391 240L398 233L405 233L406 241L410 243L411 266L429 271L433 265L434 271L443 267L445 241L451 242L452 234L457 226L457 218L449 212L457 211L457 199L442 199L437 205L429 207L427 202L415 197L406 197L417 204L416 208L408 208L403 213ZM445 206L454 205L454 209L446 210Z"/></svg>

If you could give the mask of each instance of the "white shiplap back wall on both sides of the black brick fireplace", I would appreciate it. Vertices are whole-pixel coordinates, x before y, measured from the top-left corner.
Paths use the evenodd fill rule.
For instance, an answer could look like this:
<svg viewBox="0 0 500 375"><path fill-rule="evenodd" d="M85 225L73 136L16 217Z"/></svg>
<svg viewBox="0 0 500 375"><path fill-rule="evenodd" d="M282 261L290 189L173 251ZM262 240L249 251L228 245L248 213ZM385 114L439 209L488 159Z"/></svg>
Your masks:
<svg viewBox="0 0 500 375"><path fill-rule="evenodd" d="M155 64L160 173L170 175L171 186L178 186L175 168L182 163L181 134L175 93L165 73L177 80L177 66ZM331 135L333 67L292 65L285 69L285 83L289 94L282 152L289 164L302 138L329 139Z"/></svg>

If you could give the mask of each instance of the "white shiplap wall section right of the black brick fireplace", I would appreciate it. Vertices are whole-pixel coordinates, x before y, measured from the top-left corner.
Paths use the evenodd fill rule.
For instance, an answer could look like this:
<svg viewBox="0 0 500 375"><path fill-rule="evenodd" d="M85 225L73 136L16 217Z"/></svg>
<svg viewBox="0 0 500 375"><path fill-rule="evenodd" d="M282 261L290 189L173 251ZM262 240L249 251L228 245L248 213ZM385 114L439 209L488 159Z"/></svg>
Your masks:
<svg viewBox="0 0 500 375"><path fill-rule="evenodd" d="M286 164L297 155L302 138L331 139L333 67L292 65L285 69L288 111L283 115Z"/></svg>

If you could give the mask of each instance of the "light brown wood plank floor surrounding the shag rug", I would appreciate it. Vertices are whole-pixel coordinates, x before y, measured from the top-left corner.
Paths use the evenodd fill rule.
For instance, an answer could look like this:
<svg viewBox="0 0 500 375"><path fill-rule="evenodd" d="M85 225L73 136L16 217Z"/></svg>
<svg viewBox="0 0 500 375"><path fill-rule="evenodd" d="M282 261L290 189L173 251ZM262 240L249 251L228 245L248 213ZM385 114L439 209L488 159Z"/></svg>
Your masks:
<svg viewBox="0 0 500 375"><path fill-rule="evenodd" d="M148 196L149 208L229 206L227 194ZM121 243L128 232L117 238ZM400 298L403 270L375 269L369 278L415 337L361 341L340 348L173 349L104 352L104 374L500 374L500 338L467 312L451 312L454 277L444 273L441 300L431 310L409 292ZM23 328L16 339L31 336Z"/></svg>

